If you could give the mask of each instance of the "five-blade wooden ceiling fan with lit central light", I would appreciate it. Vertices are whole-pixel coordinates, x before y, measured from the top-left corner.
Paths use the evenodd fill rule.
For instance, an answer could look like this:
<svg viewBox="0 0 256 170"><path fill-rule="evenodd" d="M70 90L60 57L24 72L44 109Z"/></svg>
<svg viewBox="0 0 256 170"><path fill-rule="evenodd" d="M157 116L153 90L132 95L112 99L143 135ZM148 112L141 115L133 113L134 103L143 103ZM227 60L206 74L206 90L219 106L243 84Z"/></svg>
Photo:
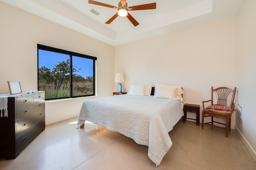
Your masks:
<svg viewBox="0 0 256 170"><path fill-rule="evenodd" d="M151 4L143 4L143 5L128 7L128 5L126 3L126 0L121 0L118 3L118 8L115 7L115 6L112 6L112 5L103 4L101 2L96 2L96 1L93 1L93 0L88 0L88 2L89 2L89 4L105 6L105 7L108 7L108 8L114 8L114 9L118 10L118 12L114 16L112 16L112 18L110 18L105 24L110 24L118 16L122 16L122 17L126 16L130 20L130 22L132 22L132 24L134 26L138 26L139 23L128 13L128 11L156 9L156 2L151 3Z"/></svg>

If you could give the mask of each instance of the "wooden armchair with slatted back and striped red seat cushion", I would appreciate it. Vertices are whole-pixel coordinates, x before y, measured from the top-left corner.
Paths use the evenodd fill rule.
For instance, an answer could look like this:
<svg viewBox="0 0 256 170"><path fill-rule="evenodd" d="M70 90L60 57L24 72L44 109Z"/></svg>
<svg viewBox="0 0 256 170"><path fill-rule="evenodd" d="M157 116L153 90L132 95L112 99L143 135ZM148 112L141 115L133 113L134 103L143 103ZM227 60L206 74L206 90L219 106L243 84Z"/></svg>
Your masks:
<svg viewBox="0 0 256 170"><path fill-rule="evenodd" d="M213 89L212 87L212 99L208 101L202 101L202 129L204 129L204 124L211 125L213 127L223 128L226 129L226 137L228 137L228 131L230 131L231 116L232 113L236 111L234 103L235 94L236 87L234 88L234 90L228 87L218 87L216 89ZM230 105L227 105L228 101L230 101ZM211 102L211 105L205 107L204 104L207 102ZM212 117L212 120L210 122L204 123L205 117ZM214 121L214 117L222 117L226 119L226 123ZM220 123L222 125L226 125L226 127L220 127L215 125L214 123Z"/></svg>

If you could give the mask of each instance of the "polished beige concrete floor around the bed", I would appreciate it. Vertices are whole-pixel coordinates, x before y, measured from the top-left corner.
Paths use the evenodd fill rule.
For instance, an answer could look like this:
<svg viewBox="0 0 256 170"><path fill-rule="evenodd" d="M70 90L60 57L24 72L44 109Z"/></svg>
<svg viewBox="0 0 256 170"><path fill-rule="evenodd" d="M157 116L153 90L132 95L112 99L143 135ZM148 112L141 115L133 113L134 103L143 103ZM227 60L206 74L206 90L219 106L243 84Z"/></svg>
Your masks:
<svg viewBox="0 0 256 170"><path fill-rule="evenodd" d="M181 121L169 132L172 147L156 167L148 147L92 123L76 129L76 119L46 125L1 170L256 170L256 162L236 134Z"/></svg>

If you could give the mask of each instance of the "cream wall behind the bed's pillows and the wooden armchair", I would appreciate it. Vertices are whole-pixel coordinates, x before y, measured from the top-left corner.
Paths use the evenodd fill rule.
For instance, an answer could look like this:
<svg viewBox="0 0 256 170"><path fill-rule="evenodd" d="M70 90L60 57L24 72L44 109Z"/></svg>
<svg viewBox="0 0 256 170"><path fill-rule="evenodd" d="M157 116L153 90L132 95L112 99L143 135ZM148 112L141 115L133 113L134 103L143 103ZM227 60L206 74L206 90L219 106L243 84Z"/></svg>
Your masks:
<svg viewBox="0 0 256 170"><path fill-rule="evenodd" d="M183 87L184 103L201 105L211 87L236 86L237 17L115 47L115 72L129 85ZM114 86L117 89L116 85ZM231 128L234 128L235 115Z"/></svg>

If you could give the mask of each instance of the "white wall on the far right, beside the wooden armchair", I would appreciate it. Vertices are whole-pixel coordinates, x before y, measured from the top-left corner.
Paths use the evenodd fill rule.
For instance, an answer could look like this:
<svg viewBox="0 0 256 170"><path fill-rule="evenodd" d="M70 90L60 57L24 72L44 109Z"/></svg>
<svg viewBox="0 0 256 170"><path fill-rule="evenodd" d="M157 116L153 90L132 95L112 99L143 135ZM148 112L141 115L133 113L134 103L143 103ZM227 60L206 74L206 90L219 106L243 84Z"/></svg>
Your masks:
<svg viewBox="0 0 256 170"><path fill-rule="evenodd" d="M236 128L256 161L256 1L246 0L239 13Z"/></svg>

